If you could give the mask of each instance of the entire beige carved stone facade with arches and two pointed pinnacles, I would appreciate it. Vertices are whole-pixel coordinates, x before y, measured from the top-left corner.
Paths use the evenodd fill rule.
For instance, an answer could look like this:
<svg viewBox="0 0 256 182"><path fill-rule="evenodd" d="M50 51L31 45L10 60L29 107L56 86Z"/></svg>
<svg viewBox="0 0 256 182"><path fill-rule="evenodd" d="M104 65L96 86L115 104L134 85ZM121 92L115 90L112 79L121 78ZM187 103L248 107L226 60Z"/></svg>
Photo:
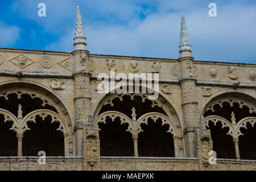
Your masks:
<svg viewBox="0 0 256 182"><path fill-rule="evenodd" d="M107 110L130 93L100 93L104 82L97 78L101 73L111 77L123 73L159 73L159 98L148 100L148 94L137 94L142 102L150 101L151 107L162 108L164 113L152 111L137 117L139 110L133 107L131 115ZM53 110L38 109L26 112L23 104L14 114L0 108L0 122L10 122L10 130L16 133L17 155L1 157L1 170L256 170L255 160L240 160L238 142L243 130L255 126L256 117L236 121L233 113L230 121L214 112L216 105L230 107L245 106L250 114L256 114L256 65L197 61L192 57L184 16L181 23L179 59L150 57L110 56L90 54L86 49L86 38L81 23L80 9L77 10L76 36L73 52L32 51L25 49L0 48L0 98L8 101L9 96L36 98L42 106ZM117 84L119 80L114 80ZM139 82L141 86L142 81ZM23 113L26 113L23 114ZM17 115L17 116L16 116ZM38 158L23 156L23 138L30 130L29 123L50 116L51 123L59 123L58 131L64 137L64 156L46 159L39 165ZM100 124L119 118L127 125L133 140L134 156L101 156ZM168 126L167 133L174 140L175 158L141 157L138 150L142 124L148 119L158 119ZM209 165L209 151L214 150L213 133L209 123L221 123L233 138L236 159L217 159ZM13 132L13 131L10 131ZM254 133L255 137L255 133ZM255 143L251 143L254 144Z"/></svg>

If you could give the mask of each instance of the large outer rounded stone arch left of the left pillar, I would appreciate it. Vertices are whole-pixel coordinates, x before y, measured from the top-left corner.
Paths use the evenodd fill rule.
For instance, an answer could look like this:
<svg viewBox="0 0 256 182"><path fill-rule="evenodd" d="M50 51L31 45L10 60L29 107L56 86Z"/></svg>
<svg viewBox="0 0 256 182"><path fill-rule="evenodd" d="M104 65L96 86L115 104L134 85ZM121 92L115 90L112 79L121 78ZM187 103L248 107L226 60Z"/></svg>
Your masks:
<svg viewBox="0 0 256 182"><path fill-rule="evenodd" d="M39 98L42 100L42 106L53 106L57 111L57 118L61 120L61 126L63 128L65 155L75 154L75 151L73 150L73 144L75 143L73 142L73 113L62 96L39 82L29 80L1 82L0 89L0 97L5 98L6 100L8 100L8 95L11 93L16 94L17 98L20 98L23 94L27 94L32 99ZM51 111L49 112L51 113Z"/></svg>

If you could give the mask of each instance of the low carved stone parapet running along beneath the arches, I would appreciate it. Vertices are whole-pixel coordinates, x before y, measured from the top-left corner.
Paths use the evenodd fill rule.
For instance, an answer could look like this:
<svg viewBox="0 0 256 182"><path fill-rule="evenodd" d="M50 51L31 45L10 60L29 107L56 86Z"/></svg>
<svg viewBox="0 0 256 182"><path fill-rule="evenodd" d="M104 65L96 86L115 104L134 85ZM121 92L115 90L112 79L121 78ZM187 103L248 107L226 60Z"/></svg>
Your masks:
<svg viewBox="0 0 256 182"><path fill-rule="evenodd" d="M0 171L81 171L81 157L47 158L46 165L38 157L0 158ZM103 171L255 171L256 160L217 159L215 165L199 165L197 158L133 158L101 157Z"/></svg>

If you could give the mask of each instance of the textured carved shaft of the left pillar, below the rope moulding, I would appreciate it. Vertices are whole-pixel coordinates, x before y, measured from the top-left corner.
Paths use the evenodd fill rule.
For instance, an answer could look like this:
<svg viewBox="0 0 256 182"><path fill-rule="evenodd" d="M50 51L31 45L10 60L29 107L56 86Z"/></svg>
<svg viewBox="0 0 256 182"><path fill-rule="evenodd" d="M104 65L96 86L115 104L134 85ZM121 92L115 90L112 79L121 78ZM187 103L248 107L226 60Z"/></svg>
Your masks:
<svg viewBox="0 0 256 182"><path fill-rule="evenodd" d="M75 77L75 107L76 124L88 122L90 111L90 76L89 72L80 72Z"/></svg>

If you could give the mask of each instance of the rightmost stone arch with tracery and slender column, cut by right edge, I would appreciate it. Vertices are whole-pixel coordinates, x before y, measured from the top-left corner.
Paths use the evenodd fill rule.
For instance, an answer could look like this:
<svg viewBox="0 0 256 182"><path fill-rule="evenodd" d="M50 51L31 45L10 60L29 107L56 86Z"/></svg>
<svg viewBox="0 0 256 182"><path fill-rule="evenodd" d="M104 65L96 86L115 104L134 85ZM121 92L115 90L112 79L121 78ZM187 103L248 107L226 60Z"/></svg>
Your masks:
<svg viewBox="0 0 256 182"><path fill-rule="evenodd" d="M237 118L235 117L236 112L233 112L233 110L228 109L226 111L229 111L229 112L232 111L232 114L230 119L226 119L225 113L222 111L222 109L220 109L224 107L224 104L226 106L229 105L230 108L232 107L234 109L236 108L236 110L246 108L246 113L244 113L244 115L239 114L238 118L240 118L240 121L236 122L237 120ZM218 107L214 107L214 106L218 106ZM216 111L214 110L214 108L215 109L218 108L218 112L220 112L218 114L220 114L222 117L220 115L217 115L217 113L215 113ZM207 114L208 116L204 118L205 112L209 112L209 113ZM214 126L216 126L216 123L220 122L222 129L224 129L225 127L228 128L228 133L226 133L226 135L230 135L233 138L234 149L236 151L236 159L240 159L238 138L241 135L243 135L240 129L241 128L247 129L246 127L247 123L250 123L251 126L254 127L254 124L256 122L255 114L256 114L255 97L251 96L249 93L241 93L241 92L218 93L216 96L212 97L210 101L208 101L208 103L204 106L204 109L201 110L201 118L204 121L203 125L205 124L207 127L209 127L209 122L213 122Z"/></svg>

